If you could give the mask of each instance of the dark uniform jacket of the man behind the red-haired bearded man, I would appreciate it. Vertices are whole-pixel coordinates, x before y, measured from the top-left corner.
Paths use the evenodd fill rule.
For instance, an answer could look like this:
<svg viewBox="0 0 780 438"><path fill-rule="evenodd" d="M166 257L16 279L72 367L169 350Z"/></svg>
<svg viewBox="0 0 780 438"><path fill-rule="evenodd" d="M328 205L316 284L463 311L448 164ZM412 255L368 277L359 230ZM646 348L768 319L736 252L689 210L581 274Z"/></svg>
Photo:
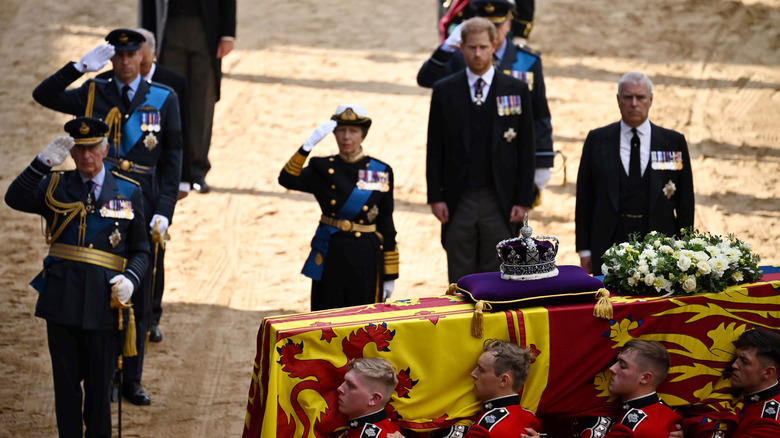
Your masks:
<svg viewBox="0 0 780 438"><path fill-rule="evenodd" d="M527 47L515 46L511 41L508 41L504 57L501 58L501 63L497 68L503 73L517 70L518 66L515 66L515 64L518 63L520 58L522 58L520 64L524 66L522 71L533 74L533 83L529 88L531 92L531 106L534 111L536 167L553 167L555 152L553 151L552 121L550 107L547 105L547 89L544 84L541 56ZM447 52L440 47L420 67L420 71L417 72L417 84L421 87L432 87L434 82L465 69L466 61L463 59L463 53L460 50Z"/></svg>

